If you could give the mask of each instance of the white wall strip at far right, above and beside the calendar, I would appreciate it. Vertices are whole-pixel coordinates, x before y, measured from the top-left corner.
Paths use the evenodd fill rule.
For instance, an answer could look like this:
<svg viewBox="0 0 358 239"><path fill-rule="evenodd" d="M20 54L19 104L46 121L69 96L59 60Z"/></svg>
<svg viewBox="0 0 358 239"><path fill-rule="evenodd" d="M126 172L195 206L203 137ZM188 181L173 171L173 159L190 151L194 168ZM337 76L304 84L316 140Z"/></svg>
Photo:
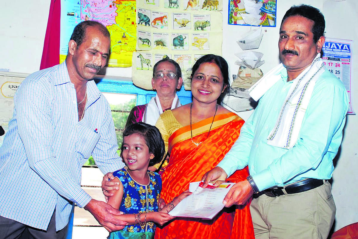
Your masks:
<svg viewBox="0 0 358 239"><path fill-rule="evenodd" d="M323 4L323 14L326 16L326 36L355 40L353 43L352 61L352 106L358 110L358 32L357 23L358 3L356 0L329 0ZM357 135L358 116L348 115L344 129L340 157L333 171L332 193L337 206L336 229L358 221L358 163Z"/></svg>

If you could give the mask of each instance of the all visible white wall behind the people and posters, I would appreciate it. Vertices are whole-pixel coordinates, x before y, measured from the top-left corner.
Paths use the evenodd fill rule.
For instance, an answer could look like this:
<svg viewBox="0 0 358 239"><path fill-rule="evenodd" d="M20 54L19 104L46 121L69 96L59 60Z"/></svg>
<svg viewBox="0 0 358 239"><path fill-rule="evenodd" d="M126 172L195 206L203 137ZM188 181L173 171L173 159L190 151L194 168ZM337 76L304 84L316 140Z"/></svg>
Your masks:
<svg viewBox="0 0 358 239"><path fill-rule="evenodd" d="M43 49L44 35L47 26L49 13L48 0L30 0L21 3L8 1L2 5L2 24L0 25L0 68L9 69L13 72L31 73L39 70L40 60ZM277 3L277 27L263 28L264 36L259 51L264 53L263 64L260 68L263 73L269 71L279 63L277 41L279 38L279 25L287 9L293 4L310 4L321 9L326 20L326 37L358 39L355 30L356 13L358 10L355 0L279 0ZM239 66L234 62L237 57L234 53L240 52L241 48L237 45L236 39L250 27L233 26L227 24L228 1L224 1L223 6L223 56L228 61L231 73L236 74ZM344 10L344 11L341 11ZM351 27L352 26L352 27ZM358 51L358 44L353 44L353 53ZM353 61L358 61L357 53L353 55ZM353 62L353 82L352 82L352 106L358 110L358 101L354 97L358 94L358 85L354 83L357 76L357 64ZM108 69L108 75L131 76L131 68ZM247 119L252 111L239 113ZM347 116L347 124L344 131L343 143L341 146L340 157L337 167L333 174L332 192L337 205L335 230L345 225L358 221L358 163L356 135L358 129L358 118L355 115Z"/></svg>

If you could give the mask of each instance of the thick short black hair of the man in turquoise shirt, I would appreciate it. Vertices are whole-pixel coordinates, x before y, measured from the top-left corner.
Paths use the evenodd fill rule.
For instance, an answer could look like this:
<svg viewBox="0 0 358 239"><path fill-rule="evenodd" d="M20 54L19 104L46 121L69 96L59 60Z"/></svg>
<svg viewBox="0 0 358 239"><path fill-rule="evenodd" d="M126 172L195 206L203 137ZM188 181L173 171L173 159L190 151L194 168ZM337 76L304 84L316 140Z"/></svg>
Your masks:
<svg viewBox="0 0 358 239"><path fill-rule="evenodd" d="M286 18L288 18L289 16L297 16L297 15L308 18L314 22L311 32L313 33L314 42L317 42L318 39L321 36L323 36L324 28L326 24L324 20L324 16L321 13L321 11L318 10L317 8L314 8L313 6L306 5L306 4L301 4L299 6L294 5L289 10L286 11L284 18L281 21L281 27L282 27L282 23L285 21Z"/></svg>

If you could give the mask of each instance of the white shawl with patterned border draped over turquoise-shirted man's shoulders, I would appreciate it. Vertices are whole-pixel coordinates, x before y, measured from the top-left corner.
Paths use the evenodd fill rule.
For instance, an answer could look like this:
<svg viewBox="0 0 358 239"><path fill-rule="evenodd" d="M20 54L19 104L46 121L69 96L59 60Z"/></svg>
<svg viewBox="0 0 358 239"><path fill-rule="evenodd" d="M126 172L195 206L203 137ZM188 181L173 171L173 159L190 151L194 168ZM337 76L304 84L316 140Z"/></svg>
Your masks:
<svg viewBox="0 0 358 239"><path fill-rule="evenodd" d="M279 72L281 72L283 68L284 66L281 63L257 81L255 85L249 89L252 99L255 101L260 99L271 86L281 79ZM295 82L292 82L276 125L267 137L267 144L284 149L294 147L299 137L302 121L314 85L324 71L324 62L318 54L311 63L311 66L301 72L301 74L296 77Z"/></svg>

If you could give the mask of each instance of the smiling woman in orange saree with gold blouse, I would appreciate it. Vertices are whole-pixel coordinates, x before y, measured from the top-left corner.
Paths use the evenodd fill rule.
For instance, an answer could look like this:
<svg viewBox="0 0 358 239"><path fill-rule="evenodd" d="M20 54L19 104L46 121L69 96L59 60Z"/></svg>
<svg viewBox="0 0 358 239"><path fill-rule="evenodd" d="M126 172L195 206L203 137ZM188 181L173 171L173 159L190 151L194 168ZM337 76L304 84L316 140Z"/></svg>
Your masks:
<svg viewBox="0 0 358 239"><path fill-rule="evenodd" d="M228 87L228 65L222 57L199 58L190 78L193 103L165 111L156 123L170 154L161 174L161 198L165 202L214 168L238 138L244 123L218 104ZM227 180L239 182L247 176L245 168ZM224 208L212 220L178 217L162 228L157 227L154 238L254 238L250 208L248 205Z"/></svg>

